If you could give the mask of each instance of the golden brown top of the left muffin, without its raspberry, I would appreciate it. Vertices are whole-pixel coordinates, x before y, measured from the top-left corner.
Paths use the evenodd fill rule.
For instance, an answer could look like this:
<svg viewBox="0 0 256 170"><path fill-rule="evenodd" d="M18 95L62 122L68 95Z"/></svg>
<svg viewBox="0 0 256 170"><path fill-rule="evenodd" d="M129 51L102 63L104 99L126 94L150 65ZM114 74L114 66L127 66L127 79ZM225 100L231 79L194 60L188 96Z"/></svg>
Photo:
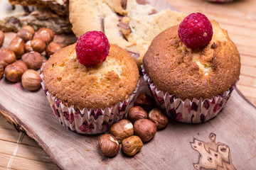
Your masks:
<svg viewBox="0 0 256 170"><path fill-rule="evenodd" d="M132 94L139 70L127 51L110 45L105 62L85 67L78 62L75 45L56 52L43 67L44 84L50 94L80 109L104 109Z"/></svg>

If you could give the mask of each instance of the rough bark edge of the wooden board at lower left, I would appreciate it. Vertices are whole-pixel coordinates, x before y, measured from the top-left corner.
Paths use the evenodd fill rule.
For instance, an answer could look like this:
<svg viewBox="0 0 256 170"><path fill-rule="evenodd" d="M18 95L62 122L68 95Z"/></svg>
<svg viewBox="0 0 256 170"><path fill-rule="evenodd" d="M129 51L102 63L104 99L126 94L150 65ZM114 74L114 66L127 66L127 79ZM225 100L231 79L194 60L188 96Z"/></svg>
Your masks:
<svg viewBox="0 0 256 170"><path fill-rule="evenodd" d="M33 140L36 141L36 143L41 146L46 153L49 155L50 159L52 159L53 164L55 164L56 166L58 166L59 169L60 166L56 163L55 161L55 157L54 155L50 152L49 147L46 145L45 142L43 142L43 140L41 140L40 137L38 137L38 135L36 134L36 132L34 132L31 128L26 127L26 125L23 125L23 123L21 122L21 120L19 118L17 118L16 115L14 115L13 113L11 113L10 111L6 110L6 108L4 108L4 106L1 105L0 103L0 114L4 117L4 119L8 122L11 123L11 125L14 126L14 128L16 128L16 130L18 132L22 131L24 133L26 133L26 135L28 135L29 137L31 137Z"/></svg>

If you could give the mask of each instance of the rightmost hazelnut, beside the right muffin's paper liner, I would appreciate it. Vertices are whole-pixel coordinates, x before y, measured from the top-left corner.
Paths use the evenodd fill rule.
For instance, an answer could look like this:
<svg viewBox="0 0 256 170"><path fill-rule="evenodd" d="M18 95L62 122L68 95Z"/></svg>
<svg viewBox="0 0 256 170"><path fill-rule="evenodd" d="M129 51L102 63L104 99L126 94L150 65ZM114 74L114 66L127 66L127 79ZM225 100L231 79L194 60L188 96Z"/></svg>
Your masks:
<svg viewBox="0 0 256 170"><path fill-rule="evenodd" d="M168 124L169 120L162 113L160 108L153 108L152 111L149 112L149 120L151 120L158 129L163 129Z"/></svg>

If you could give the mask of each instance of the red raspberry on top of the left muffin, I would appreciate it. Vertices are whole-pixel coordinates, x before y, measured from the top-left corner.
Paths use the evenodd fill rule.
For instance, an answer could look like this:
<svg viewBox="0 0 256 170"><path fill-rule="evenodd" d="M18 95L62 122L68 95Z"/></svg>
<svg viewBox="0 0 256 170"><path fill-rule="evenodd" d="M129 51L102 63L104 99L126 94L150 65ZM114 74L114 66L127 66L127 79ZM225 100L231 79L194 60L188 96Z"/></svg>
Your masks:
<svg viewBox="0 0 256 170"><path fill-rule="evenodd" d="M110 51L110 42L104 33L89 31L78 38L75 51L81 64L85 67L95 67L106 60Z"/></svg>

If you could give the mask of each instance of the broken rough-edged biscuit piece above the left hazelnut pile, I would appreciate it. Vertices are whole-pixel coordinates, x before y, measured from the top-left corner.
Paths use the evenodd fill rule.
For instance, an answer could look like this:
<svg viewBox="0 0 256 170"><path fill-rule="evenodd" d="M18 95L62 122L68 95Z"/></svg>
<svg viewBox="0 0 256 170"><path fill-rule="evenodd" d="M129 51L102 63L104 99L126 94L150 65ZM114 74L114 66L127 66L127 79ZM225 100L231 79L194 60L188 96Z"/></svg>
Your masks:
<svg viewBox="0 0 256 170"><path fill-rule="evenodd" d="M72 33L67 16L58 16L48 8L11 5L8 0L0 1L0 30L17 32L23 26L32 26L35 30L47 27L55 34Z"/></svg>

